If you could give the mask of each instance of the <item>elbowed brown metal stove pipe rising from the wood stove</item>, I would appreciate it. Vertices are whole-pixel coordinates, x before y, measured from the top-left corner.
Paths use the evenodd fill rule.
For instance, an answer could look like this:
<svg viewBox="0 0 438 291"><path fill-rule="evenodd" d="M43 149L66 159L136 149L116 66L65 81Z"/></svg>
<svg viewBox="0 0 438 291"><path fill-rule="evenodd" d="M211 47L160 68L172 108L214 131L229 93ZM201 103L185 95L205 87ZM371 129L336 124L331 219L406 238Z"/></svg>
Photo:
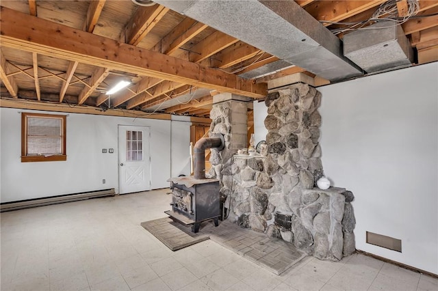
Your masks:
<svg viewBox="0 0 438 291"><path fill-rule="evenodd" d="M205 179L205 150L207 148L216 148L222 150L224 148L224 137L220 134L215 137L203 137L196 141L194 152L194 178Z"/></svg>

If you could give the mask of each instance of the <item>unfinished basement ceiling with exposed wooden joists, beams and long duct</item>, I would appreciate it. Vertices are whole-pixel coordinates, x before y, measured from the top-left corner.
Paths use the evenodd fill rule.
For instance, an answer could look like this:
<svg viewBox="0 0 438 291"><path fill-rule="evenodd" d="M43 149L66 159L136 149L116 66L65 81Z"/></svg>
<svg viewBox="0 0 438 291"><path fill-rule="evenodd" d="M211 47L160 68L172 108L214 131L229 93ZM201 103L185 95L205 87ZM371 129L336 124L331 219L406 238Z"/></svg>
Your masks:
<svg viewBox="0 0 438 291"><path fill-rule="evenodd" d="M371 72L344 56L342 40L359 29L366 38L376 18L402 28L407 65L438 59L438 0L156 2L2 0L1 106L209 117L212 92L263 98L267 81L296 72ZM131 85L108 96L121 80Z"/></svg>

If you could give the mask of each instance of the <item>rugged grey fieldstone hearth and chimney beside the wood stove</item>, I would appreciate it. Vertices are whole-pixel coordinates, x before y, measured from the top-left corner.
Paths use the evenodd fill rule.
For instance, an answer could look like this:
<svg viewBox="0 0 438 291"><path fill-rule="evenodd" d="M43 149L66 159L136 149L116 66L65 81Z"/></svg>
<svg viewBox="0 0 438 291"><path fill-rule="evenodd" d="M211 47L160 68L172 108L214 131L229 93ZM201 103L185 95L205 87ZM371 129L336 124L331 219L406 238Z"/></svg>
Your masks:
<svg viewBox="0 0 438 291"><path fill-rule="evenodd" d="M211 156L210 174L222 181L221 194L230 202L228 219L322 260L350 255L355 251L354 196L342 188L316 187L324 176L320 92L295 84L268 94L265 102L268 156L233 156L237 148L231 146ZM228 102L211 111L211 132L224 133L230 145L235 108Z"/></svg>

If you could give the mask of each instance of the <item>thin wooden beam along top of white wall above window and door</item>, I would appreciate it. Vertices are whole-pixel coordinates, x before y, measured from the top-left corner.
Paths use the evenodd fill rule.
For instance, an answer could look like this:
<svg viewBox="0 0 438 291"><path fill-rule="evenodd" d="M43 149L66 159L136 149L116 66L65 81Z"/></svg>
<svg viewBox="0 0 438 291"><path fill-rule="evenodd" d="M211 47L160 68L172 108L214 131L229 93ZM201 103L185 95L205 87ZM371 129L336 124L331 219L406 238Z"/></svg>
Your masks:
<svg viewBox="0 0 438 291"><path fill-rule="evenodd" d="M145 113L142 111L134 110L123 110L123 109L108 109L107 111L102 111L100 108L90 107L90 106L75 106L70 107L64 103L47 103L38 102L34 100L16 100L16 99L5 99L1 98L0 107L5 108L18 108L27 110L42 110L42 111L55 111L55 112L66 112L66 113L83 113L92 115L107 115L107 116L122 116L122 117L136 117L136 118L146 118L151 120L170 120L172 117L168 113Z"/></svg>

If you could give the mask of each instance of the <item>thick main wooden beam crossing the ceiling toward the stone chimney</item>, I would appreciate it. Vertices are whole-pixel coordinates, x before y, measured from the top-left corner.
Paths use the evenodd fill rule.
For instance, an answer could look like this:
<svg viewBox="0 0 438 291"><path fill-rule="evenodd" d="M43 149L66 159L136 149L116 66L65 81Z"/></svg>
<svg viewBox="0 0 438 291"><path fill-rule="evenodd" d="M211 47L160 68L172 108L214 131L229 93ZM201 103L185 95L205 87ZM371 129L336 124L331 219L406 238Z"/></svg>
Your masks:
<svg viewBox="0 0 438 291"><path fill-rule="evenodd" d="M266 85L1 7L1 45L253 98ZM47 36L51 36L48 38Z"/></svg>

